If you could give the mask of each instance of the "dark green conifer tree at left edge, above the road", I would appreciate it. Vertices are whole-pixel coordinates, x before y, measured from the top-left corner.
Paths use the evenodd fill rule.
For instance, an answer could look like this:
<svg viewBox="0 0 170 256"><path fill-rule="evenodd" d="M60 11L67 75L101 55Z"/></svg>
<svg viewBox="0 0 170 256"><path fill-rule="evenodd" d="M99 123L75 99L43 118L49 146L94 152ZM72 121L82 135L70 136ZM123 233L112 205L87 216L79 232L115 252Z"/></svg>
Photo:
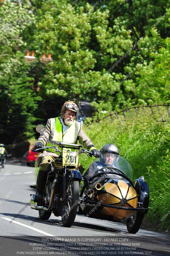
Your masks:
<svg viewBox="0 0 170 256"><path fill-rule="evenodd" d="M0 140L7 144L27 141L35 134L35 110L41 97L34 92L31 71L30 65L18 62L1 81Z"/></svg>

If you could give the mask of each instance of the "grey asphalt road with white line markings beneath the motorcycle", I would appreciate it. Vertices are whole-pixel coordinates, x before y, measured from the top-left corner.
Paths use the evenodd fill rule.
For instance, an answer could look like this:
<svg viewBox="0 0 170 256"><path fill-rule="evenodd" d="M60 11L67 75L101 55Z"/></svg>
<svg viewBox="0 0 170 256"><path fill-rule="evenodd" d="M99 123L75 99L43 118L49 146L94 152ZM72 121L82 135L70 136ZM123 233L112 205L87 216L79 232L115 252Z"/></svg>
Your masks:
<svg viewBox="0 0 170 256"><path fill-rule="evenodd" d="M35 189L30 188L30 185L35 183L35 168L33 167L6 164L0 172L0 255L26 254L19 253L21 244L24 244L23 248L27 250L30 249L27 247L28 243L37 243L37 241L42 241L42 237L51 238L53 236L79 236L84 239L85 237L97 237L105 239L101 241L108 243L109 240L106 239L112 238L112 246L113 242L115 243L114 246L117 246L112 250L108 248L104 251L106 253L103 254L101 254L102 251L93 251L94 249L91 248L89 252L95 253L92 255L125 255L130 252L131 255L169 255L170 236L163 233L140 229L137 234L133 235L128 233L125 224L85 218L82 215L76 216L71 228L64 227L61 218L55 217L53 214L49 220L40 220L38 211L32 210L29 206L30 193L35 193ZM128 243L138 243L137 246L135 244L135 252L141 253L132 253L131 249L125 250L125 246L128 246L127 248L132 246ZM107 244L103 244L103 248L106 248L106 246ZM47 251L49 252L49 250ZM33 252L35 252L35 249ZM55 249L53 252L56 252ZM85 255L78 252L72 255Z"/></svg>

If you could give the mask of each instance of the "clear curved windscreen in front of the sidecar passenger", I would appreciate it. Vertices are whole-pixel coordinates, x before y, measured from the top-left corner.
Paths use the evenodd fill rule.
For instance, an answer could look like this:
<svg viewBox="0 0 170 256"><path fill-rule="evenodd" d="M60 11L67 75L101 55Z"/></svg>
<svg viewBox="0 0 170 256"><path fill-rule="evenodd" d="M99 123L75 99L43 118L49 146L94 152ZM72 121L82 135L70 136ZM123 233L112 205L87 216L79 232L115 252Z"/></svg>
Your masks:
<svg viewBox="0 0 170 256"><path fill-rule="evenodd" d="M122 171L130 180L132 180L132 167L124 157L115 154L103 154L102 157L96 158L95 161L100 161L103 167L110 166Z"/></svg>

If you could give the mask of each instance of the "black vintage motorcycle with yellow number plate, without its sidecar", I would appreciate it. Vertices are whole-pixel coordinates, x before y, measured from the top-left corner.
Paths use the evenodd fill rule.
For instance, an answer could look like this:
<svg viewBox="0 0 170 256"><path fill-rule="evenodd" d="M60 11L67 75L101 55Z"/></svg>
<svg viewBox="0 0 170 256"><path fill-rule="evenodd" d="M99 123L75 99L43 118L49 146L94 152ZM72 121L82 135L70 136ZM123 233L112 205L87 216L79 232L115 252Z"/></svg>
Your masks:
<svg viewBox="0 0 170 256"><path fill-rule="evenodd" d="M41 124L36 127L36 131L39 133L43 132L43 129ZM81 153L90 156L92 152L84 148L80 150L82 145L78 144L58 142L58 146L62 148L62 152L53 145L36 149L53 148L60 153L60 156L53 163L50 163L51 167L44 188L43 200L36 203L35 195L31 194L30 205L31 209L39 211L40 219L48 220L53 212L55 216L61 216L64 226L71 227L77 213L79 185L82 179L78 170L78 157Z"/></svg>

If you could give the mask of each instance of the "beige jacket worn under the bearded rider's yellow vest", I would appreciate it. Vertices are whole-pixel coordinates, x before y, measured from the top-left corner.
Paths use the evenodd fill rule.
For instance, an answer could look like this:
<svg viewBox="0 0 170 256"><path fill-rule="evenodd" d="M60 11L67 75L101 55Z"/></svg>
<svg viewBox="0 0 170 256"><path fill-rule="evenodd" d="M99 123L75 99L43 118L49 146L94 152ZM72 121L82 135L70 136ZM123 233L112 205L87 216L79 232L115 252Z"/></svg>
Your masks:
<svg viewBox="0 0 170 256"><path fill-rule="evenodd" d="M59 117L59 120L60 120L60 123L61 123L61 117ZM77 121L75 121L77 122ZM50 138L50 119L47 120L47 124L46 124L46 127L44 129L44 134L45 136L49 139ZM45 138L43 133L40 133L40 137L38 138L38 141L41 141L43 142L44 146L47 145L48 141L47 139ZM90 149L91 147L94 147L92 141L89 139L89 137L83 132L83 129L82 129L82 124L81 124L81 127L80 127L80 131L77 135L77 139L74 141L75 144L77 144L77 141L79 141L80 144L83 145L84 148L87 148L87 149ZM54 156L56 158L58 158L58 154L56 153L52 153L52 152L47 152L46 150L44 150L43 153L40 153L38 155L38 158L37 158L37 163L40 163L42 157L44 156L47 156L47 155L50 155L50 156Z"/></svg>

